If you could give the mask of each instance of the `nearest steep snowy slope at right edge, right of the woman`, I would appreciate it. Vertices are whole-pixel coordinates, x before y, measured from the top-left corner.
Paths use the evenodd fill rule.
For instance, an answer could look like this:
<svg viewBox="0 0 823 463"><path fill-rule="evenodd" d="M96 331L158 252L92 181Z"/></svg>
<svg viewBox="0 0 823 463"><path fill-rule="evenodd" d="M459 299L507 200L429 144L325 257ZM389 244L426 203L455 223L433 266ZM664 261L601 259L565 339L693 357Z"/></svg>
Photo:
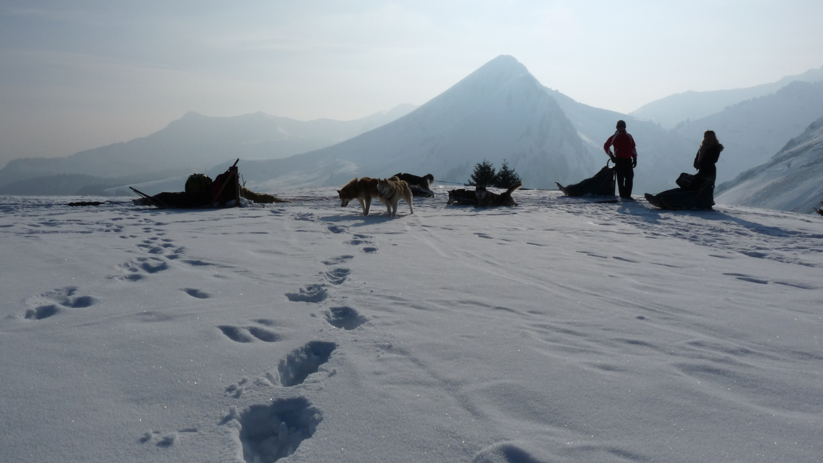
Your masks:
<svg viewBox="0 0 823 463"><path fill-rule="evenodd" d="M823 202L823 117L718 192L718 203L811 213Z"/></svg>

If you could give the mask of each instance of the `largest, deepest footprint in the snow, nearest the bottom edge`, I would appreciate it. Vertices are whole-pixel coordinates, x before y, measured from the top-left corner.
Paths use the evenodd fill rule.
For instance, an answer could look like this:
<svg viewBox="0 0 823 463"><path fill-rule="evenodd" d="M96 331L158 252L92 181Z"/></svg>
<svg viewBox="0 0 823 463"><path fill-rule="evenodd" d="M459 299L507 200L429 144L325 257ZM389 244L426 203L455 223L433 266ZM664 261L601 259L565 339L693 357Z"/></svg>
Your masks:
<svg viewBox="0 0 823 463"><path fill-rule="evenodd" d="M236 414L236 409L232 410ZM303 397L279 399L271 405L252 405L229 418L239 422L239 440L247 463L272 463L290 456L314 435L320 411ZM224 420L226 422L226 420Z"/></svg>

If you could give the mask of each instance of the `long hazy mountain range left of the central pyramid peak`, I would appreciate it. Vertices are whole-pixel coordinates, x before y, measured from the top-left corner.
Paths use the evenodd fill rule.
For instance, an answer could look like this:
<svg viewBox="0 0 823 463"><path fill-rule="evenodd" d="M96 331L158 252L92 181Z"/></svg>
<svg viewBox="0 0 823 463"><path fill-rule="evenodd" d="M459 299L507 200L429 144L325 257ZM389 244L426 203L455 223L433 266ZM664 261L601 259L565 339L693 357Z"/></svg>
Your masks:
<svg viewBox="0 0 823 463"><path fill-rule="evenodd" d="M203 171L230 158L288 157L342 142L415 108L415 105L398 105L393 110L349 121L300 121L262 112L233 117L209 117L188 112L165 129L126 143L114 143L63 158L16 159L0 170L0 185L7 185L2 189L6 194L43 194L32 189L39 188L38 184L53 184L53 178L25 180L66 174L91 175L89 181L92 183L114 182L117 185L123 183L123 177L162 179ZM21 191L9 191L10 186ZM74 186L81 185L72 184L72 188ZM63 194L74 194L76 190Z"/></svg>

